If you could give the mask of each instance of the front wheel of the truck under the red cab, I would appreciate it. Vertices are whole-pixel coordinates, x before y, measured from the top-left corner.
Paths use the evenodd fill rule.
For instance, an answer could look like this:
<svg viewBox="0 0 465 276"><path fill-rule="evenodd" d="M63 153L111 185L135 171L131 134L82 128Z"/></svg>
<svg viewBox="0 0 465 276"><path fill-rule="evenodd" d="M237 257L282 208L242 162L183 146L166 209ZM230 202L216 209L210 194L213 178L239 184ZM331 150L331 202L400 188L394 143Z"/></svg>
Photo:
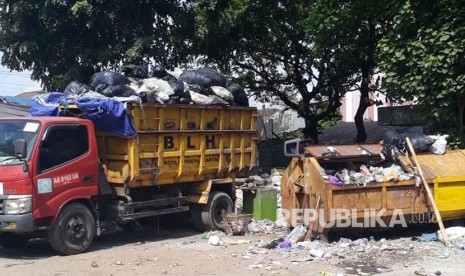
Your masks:
<svg viewBox="0 0 465 276"><path fill-rule="evenodd" d="M71 203L60 212L48 231L52 248L61 255L86 251L95 236L95 218L82 203Z"/></svg>

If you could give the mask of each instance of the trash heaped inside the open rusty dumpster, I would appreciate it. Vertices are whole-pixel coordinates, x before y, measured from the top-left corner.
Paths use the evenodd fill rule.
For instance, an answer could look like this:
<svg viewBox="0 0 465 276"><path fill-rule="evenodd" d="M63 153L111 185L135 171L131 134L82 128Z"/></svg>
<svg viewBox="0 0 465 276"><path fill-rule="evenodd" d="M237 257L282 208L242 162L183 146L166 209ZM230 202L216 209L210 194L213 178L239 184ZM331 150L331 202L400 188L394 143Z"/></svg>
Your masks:
<svg viewBox="0 0 465 276"><path fill-rule="evenodd" d="M327 179L334 185L358 185L366 187L367 184L372 182L386 182L386 181L402 181L413 179L414 175L406 173L404 170L395 164L387 168L360 165L358 171L342 169L331 175L332 171L327 172Z"/></svg>

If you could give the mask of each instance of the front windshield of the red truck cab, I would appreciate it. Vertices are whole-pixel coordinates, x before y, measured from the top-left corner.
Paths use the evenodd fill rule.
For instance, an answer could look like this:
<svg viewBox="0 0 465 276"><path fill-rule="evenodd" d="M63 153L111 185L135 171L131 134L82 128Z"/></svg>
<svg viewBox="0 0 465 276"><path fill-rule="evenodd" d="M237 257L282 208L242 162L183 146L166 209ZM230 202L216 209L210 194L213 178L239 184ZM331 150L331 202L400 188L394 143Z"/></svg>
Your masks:
<svg viewBox="0 0 465 276"><path fill-rule="evenodd" d="M24 139L27 143L27 159L39 132L36 121L0 120L0 166L22 163L15 156L14 141Z"/></svg>

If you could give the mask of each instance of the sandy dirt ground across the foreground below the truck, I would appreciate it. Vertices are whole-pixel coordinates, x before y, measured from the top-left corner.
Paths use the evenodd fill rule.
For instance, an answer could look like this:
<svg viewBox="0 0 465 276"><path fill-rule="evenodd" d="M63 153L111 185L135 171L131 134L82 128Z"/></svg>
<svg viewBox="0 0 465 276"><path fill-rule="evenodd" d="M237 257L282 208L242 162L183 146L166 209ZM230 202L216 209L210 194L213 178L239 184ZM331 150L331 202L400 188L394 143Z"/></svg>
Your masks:
<svg viewBox="0 0 465 276"><path fill-rule="evenodd" d="M465 251L447 248L439 242L412 241L409 237L382 241L387 244L383 249L386 253L368 257L380 262L384 260L381 262L384 266L371 273L359 269L355 274L348 273L347 267L363 268L367 259L360 257L361 263L364 263L358 264L353 262L357 260L354 256L313 258L304 247L283 250L257 246L260 242L272 241L283 235L286 235L283 231L234 237L219 233L224 244L212 246L208 244L208 233L189 229L118 230L96 238L88 252L74 256L57 256L42 241L33 241L21 249L0 248L0 271L2 275L47 276L422 275L420 272L424 272L423 275L465 275ZM250 243L231 244L240 240ZM321 248L328 252L329 248L337 249L338 246L342 248L343 243L323 245ZM408 249L399 250L402 246ZM360 251L353 248L355 251L351 252ZM374 251L370 252L375 254Z"/></svg>

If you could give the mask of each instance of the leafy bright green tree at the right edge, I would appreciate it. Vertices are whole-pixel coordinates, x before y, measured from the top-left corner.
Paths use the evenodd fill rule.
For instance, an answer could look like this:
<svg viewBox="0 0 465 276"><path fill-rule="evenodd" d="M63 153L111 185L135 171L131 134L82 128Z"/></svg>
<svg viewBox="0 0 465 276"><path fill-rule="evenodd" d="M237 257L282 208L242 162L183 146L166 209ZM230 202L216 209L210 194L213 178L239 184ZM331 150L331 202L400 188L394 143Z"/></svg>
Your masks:
<svg viewBox="0 0 465 276"><path fill-rule="evenodd" d="M431 131L458 136L465 108L463 14L460 0L405 1L380 46L388 95L418 102Z"/></svg>

